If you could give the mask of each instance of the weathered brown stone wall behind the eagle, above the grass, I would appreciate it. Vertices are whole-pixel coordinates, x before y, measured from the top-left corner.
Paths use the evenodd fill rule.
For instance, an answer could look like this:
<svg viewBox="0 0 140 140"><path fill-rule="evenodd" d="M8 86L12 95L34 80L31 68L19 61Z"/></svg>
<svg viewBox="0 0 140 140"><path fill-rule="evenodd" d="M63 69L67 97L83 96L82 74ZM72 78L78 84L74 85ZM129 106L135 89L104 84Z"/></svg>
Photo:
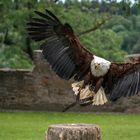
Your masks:
<svg viewBox="0 0 140 140"><path fill-rule="evenodd" d="M0 109L62 111L75 101L71 82L60 79L43 59L34 53L33 70L0 69ZM121 98L104 106L76 105L70 111L140 112L140 95Z"/></svg>

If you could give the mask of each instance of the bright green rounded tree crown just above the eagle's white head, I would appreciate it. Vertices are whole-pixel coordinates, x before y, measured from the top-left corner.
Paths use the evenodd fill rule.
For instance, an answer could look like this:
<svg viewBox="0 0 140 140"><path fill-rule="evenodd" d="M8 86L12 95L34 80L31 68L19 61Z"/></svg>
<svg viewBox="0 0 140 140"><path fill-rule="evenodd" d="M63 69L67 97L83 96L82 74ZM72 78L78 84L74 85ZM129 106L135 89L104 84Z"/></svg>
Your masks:
<svg viewBox="0 0 140 140"><path fill-rule="evenodd" d="M88 38L88 39L87 39ZM112 30L97 30L83 38L83 43L95 54L110 61L122 61L125 51L121 50L122 37Z"/></svg>

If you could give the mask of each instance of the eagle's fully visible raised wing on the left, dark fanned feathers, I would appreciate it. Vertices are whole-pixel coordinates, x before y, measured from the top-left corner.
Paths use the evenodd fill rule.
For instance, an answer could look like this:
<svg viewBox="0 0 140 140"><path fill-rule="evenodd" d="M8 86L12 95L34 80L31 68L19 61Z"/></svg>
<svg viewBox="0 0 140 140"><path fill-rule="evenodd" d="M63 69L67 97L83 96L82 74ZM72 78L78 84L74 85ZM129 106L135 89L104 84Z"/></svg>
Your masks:
<svg viewBox="0 0 140 140"><path fill-rule="evenodd" d="M68 23L62 24L49 10L27 23L29 36L41 45L44 57L63 79L81 80L90 70L93 55L85 49Z"/></svg>

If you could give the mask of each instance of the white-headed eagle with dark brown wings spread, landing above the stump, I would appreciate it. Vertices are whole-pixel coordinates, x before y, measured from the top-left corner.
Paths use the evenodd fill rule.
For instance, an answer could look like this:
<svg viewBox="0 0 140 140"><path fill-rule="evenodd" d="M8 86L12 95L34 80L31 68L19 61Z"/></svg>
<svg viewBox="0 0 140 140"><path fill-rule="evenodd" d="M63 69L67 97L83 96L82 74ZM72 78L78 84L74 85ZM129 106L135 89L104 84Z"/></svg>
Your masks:
<svg viewBox="0 0 140 140"><path fill-rule="evenodd" d="M116 101L140 91L140 59L114 63L98 57L84 48L72 27L51 11L35 13L37 17L27 23L28 34L35 41L44 41L43 56L59 77L76 81L72 89L80 105L103 105L108 99Z"/></svg>

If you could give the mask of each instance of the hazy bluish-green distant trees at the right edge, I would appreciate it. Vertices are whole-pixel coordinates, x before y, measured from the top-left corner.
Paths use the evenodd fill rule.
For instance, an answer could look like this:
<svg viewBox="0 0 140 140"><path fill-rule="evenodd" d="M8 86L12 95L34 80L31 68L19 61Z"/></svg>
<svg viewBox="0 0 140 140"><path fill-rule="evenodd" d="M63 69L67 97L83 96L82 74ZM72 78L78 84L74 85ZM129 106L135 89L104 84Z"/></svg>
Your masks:
<svg viewBox="0 0 140 140"><path fill-rule="evenodd" d="M112 29L119 36L123 37L121 48L128 53L140 53L140 15L132 15L129 18L115 16L104 26L105 29Z"/></svg>

